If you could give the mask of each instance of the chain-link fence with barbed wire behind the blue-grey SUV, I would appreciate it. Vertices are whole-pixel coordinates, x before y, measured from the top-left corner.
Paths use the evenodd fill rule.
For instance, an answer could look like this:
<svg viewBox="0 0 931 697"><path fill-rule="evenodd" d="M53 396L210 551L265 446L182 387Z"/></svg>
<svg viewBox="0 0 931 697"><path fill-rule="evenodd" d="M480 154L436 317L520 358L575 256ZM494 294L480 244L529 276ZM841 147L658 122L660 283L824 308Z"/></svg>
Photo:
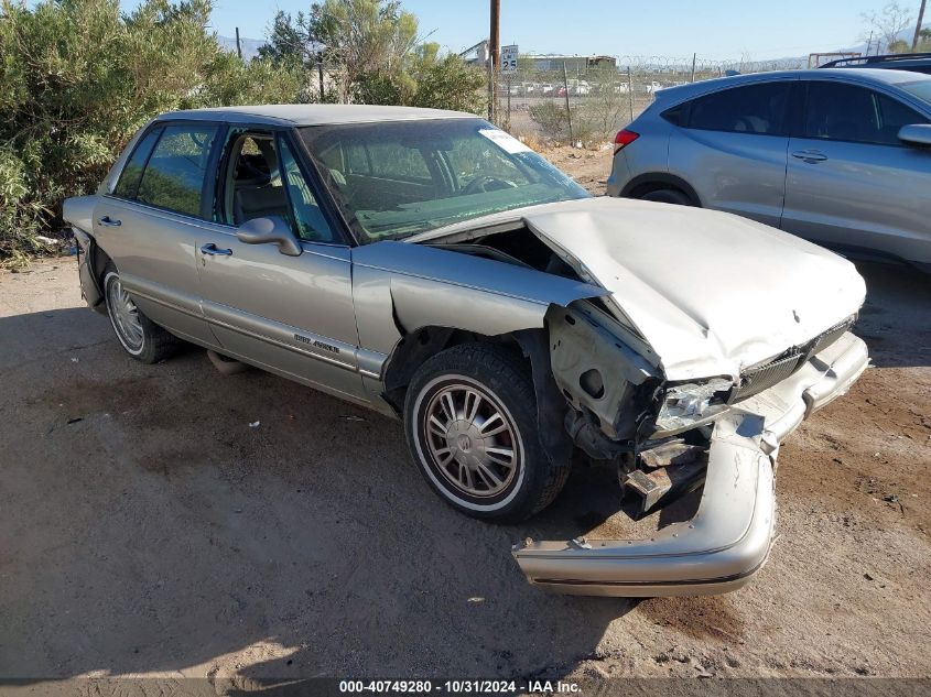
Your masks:
<svg viewBox="0 0 931 697"><path fill-rule="evenodd" d="M804 58L523 56L517 73L498 76L495 121L526 138L597 143L637 118L663 88L738 73L799 69L804 64Z"/></svg>

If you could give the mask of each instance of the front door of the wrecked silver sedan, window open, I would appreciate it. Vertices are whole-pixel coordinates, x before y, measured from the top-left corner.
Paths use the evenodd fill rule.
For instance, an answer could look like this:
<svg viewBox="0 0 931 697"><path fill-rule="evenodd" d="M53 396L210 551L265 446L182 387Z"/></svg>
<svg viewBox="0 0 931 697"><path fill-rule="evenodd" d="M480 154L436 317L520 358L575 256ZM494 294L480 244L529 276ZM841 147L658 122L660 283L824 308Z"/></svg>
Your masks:
<svg viewBox="0 0 931 697"><path fill-rule="evenodd" d="M230 129L219 173L217 220L197 241L203 309L236 358L344 399L367 401L358 373L351 252L317 205L281 133ZM300 257L247 244L237 228L277 216Z"/></svg>

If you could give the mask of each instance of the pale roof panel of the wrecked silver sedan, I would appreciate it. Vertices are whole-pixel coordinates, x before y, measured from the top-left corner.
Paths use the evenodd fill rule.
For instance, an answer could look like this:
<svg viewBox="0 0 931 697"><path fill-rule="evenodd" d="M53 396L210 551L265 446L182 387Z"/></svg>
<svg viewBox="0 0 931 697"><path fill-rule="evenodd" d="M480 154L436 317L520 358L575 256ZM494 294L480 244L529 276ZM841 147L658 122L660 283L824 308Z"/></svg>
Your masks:
<svg viewBox="0 0 931 697"><path fill-rule="evenodd" d="M474 119L477 117L474 113L463 111L420 109L416 107L382 107L372 105L257 105L169 111L159 116L155 120L169 121L183 119L293 127L462 118Z"/></svg>

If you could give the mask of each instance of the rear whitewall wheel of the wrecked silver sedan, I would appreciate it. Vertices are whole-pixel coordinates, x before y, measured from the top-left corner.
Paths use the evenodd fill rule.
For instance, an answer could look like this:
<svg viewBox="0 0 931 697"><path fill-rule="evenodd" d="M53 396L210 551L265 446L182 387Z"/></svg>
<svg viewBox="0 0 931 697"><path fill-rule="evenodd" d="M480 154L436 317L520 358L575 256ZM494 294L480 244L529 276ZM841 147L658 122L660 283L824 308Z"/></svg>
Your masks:
<svg viewBox="0 0 931 697"><path fill-rule="evenodd" d="M120 345L136 360L156 363L177 350L180 340L142 314L111 263L104 271L104 297Z"/></svg>

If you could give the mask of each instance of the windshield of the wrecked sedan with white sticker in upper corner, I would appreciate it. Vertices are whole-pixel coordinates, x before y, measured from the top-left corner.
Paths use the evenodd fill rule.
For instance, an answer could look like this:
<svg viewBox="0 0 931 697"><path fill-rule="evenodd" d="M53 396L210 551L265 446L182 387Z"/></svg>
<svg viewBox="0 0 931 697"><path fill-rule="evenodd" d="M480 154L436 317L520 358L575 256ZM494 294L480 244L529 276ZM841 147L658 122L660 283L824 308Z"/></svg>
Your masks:
<svg viewBox="0 0 931 697"><path fill-rule="evenodd" d="M301 137L362 242L588 196L481 119L315 126Z"/></svg>

